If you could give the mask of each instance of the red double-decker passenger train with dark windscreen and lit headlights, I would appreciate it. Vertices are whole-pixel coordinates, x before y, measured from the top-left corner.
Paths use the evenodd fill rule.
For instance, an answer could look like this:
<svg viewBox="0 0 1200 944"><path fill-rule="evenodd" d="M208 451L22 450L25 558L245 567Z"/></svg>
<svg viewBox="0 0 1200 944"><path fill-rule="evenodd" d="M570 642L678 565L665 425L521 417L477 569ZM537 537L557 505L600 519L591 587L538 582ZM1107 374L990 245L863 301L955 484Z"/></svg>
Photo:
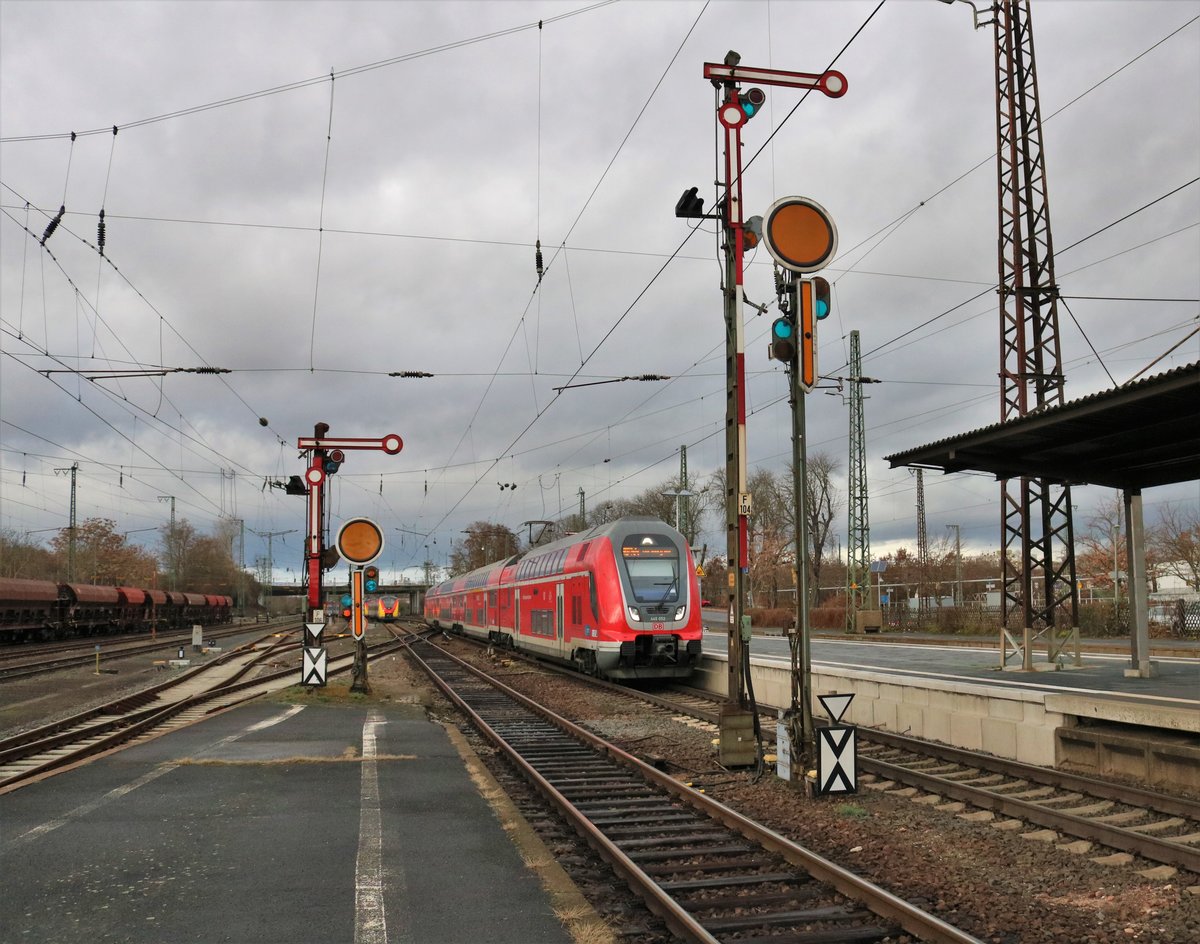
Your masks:
<svg viewBox="0 0 1200 944"><path fill-rule="evenodd" d="M610 679L679 679L700 661L688 542L618 518L433 587L425 621Z"/></svg>

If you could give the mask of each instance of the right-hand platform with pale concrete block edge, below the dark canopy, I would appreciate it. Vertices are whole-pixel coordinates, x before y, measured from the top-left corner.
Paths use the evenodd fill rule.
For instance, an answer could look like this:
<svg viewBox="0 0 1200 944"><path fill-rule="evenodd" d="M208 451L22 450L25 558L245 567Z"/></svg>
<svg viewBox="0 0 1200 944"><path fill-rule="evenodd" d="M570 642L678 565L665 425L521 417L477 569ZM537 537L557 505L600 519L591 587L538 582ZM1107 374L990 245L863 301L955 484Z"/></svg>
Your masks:
<svg viewBox="0 0 1200 944"><path fill-rule="evenodd" d="M719 695L724 643L706 633L696 679ZM1200 793L1198 659L1157 657L1156 677L1130 678L1127 657L1105 654L1085 654L1079 668L1021 673L1000 671L988 648L815 638L811 651L814 691L854 696L848 723ZM750 654L760 705L790 707L787 641L756 636Z"/></svg>

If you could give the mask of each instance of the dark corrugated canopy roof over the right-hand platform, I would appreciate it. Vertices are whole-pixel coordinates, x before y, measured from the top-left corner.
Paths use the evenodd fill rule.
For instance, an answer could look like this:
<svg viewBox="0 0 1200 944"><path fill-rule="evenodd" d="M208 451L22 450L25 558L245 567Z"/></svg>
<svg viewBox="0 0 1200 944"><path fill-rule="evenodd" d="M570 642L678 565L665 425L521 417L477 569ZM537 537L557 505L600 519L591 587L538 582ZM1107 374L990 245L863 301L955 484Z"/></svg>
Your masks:
<svg viewBox="0 0 1200 944"><path fill-rule="evenodd" d="M1200 362L884 458L1111 488L1198 480Z"/></svg>

